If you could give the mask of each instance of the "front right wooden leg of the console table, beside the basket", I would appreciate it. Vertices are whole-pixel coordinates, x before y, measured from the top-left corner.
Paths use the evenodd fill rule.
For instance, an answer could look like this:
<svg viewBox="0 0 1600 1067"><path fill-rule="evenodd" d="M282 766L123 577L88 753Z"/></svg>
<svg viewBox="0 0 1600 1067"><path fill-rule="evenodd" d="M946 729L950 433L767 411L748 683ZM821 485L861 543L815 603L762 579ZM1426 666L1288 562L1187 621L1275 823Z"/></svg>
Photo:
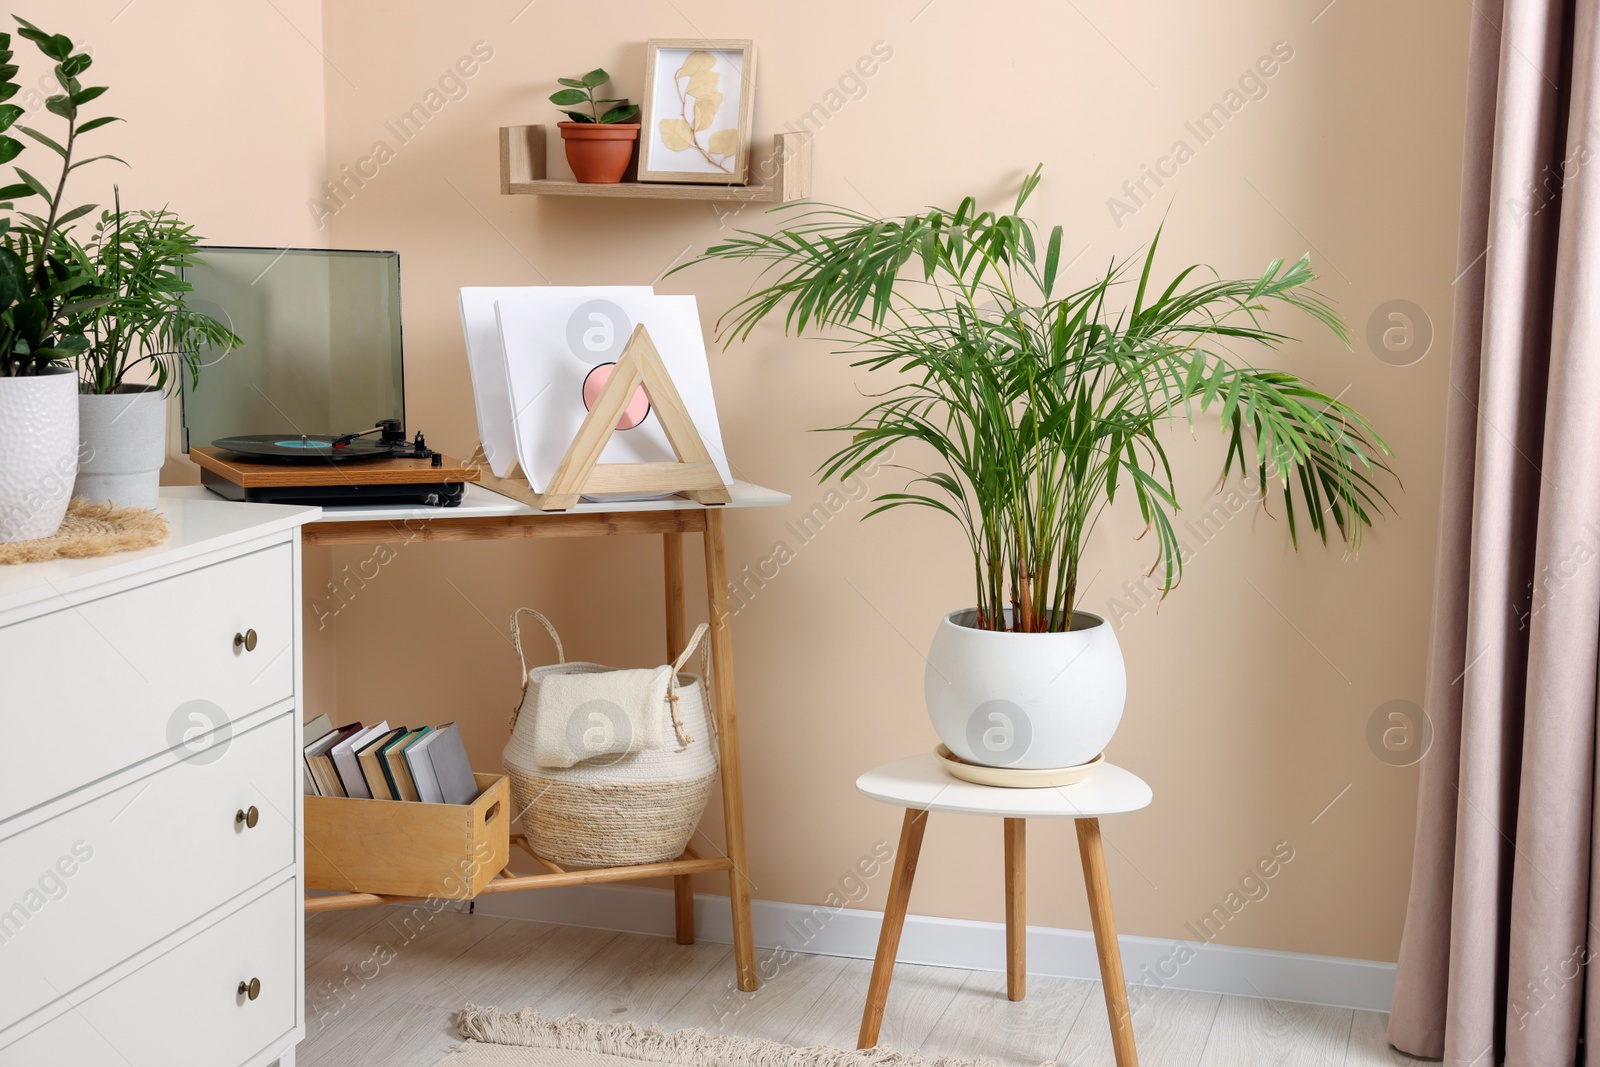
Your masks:
<svg viewBox="0 0 1600 1067"><path fill-rule="evenodd" d="M722 753L722 814L726 824L728 897L733 902L733 961L739 989L755 977L755 934L750 929L750 877L744 853L744 774L739 768L739 717L733 697L733 617L728 614L728 557L722 512L706 512L706 601L710 608L710 654L717 693L717 742Z"/></svg>

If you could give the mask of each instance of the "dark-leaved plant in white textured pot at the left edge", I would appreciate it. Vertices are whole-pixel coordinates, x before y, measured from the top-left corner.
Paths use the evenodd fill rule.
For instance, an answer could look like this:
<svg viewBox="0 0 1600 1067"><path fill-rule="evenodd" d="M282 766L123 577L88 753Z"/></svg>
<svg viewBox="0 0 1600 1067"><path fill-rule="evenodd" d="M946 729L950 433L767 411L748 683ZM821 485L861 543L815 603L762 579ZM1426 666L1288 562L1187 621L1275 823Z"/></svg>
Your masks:
<svg viewBox="0 0 1600 1067"><path fill-rule="evenodd" d="M0 186L0 541L30 541L56 531L72 496L78 450L77 376L67 362L88 341L72 326L74 317L99 299L94 280L62 251L61 235L96 205L67 208L67 176L96 158L80 158L78 138L117 122L110 115L83 118L82 109L106 86L85 86L86 53L61 34L46 34L18 18L18 32L53 64L61 93L45 107L66 122L51 138L16 126L38 146L61 157L53 182L14 163L24 144L10 130L22 109L0 102L0 163L13 163L16 181ZM21 88L11 62L11 35L0 34L0 101ZM37 198L37 211L19 208Z"/></svg>

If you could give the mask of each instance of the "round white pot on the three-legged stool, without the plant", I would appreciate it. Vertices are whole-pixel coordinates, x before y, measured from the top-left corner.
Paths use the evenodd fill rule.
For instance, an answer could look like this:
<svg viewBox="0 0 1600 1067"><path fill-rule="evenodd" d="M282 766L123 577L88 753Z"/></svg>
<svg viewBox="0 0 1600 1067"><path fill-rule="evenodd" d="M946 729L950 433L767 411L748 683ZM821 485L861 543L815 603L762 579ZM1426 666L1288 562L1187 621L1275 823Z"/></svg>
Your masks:
<svg viewBox="0 0 1600 1067"><path fill-rule="evenodd" d="M1128 697L1110 624L1072 613L1066 633L1010 633L939 621L923 672L928 717L968 763L1048 769L1088 763L1117 733Z"/></svg>

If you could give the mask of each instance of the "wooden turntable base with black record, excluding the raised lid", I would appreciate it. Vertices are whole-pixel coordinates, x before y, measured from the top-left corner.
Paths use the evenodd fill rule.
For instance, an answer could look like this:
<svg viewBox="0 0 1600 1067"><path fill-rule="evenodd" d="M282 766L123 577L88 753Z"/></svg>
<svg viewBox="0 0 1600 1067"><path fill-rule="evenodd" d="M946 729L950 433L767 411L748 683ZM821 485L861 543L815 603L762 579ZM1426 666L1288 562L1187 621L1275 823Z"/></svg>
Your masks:
<svg viewBox="0 0 1600 1067"><path fill-rule="evenodd" d="M478 480L477 467L435 453L422 434L406 442L397 419L338 437L224 437L190 446L189 458L200 485L258 504L454 507L466 483Z"/></svg>

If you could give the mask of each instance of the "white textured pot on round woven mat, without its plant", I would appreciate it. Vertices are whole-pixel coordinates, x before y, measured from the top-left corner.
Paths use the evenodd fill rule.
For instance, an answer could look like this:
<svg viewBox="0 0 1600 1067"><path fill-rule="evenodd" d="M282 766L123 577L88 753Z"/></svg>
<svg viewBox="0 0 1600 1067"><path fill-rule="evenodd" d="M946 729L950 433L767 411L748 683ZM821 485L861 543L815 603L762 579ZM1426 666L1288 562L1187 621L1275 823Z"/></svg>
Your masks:
<svg viewBox="0 0 1600 1067"><path fill-rule="evenodd" d="M0 378L0 542L61 528L78 472L78 376Z"/></svg>

